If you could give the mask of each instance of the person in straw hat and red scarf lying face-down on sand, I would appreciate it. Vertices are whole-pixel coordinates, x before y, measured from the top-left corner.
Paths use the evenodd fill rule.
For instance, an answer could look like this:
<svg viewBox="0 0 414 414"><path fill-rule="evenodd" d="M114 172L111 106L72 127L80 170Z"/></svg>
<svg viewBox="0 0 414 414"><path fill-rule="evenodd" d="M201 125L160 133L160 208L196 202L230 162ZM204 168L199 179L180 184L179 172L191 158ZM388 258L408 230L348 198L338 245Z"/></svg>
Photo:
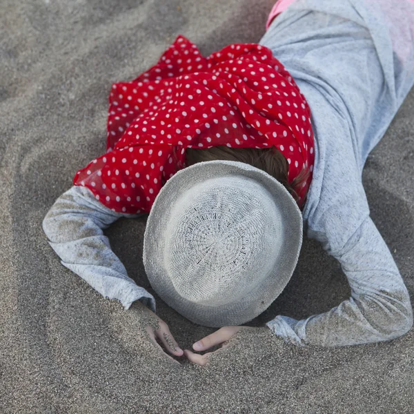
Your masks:
<svg viewBox="0 0 414 414"><path fill-rule="evenodd" d="M179 36L155 66L114 83L107 152L76 173L43 230L99 293L155 315L102 231L148 214L150 284L181 315L219 327L193 345L206 351L255 329L242 324L288 283L306 226L351 297L299 321L277 315L269 332L299 346L400 337L413 325L410 297L371 220L362 169L414 83L414 1L282 0L266 29L208 58ZM206 364L211 353L181 351L157 320L155 344Z"/></svg>

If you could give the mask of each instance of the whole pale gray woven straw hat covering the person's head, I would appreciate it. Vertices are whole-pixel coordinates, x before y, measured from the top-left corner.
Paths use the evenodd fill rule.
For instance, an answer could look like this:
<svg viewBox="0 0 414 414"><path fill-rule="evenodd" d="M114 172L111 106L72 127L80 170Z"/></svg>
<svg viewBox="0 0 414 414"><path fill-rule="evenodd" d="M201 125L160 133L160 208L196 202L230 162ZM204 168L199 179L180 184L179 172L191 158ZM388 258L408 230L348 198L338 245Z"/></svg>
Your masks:
<svg viewBox="0 0 414 414"><path fill-rule="evenodd" d="M240 325L282 293L302 232L296 201L267 172L199 162L168 179L152 204L144 267L159 297L190 321Z"/></svg>

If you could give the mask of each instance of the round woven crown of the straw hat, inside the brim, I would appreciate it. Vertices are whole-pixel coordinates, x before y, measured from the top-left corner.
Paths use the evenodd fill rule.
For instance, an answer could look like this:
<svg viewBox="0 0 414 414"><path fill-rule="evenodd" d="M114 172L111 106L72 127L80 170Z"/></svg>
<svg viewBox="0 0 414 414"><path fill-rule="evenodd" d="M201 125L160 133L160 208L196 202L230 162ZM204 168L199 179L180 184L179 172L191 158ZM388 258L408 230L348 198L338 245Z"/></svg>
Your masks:
<svg viewBox="0 0 414 414"><path fill-rule="evenodd" d="M206 306L241 300L279 257L283 222L275 201L250 177L215 177L172 206L166 259L177 293Z"/></svg>

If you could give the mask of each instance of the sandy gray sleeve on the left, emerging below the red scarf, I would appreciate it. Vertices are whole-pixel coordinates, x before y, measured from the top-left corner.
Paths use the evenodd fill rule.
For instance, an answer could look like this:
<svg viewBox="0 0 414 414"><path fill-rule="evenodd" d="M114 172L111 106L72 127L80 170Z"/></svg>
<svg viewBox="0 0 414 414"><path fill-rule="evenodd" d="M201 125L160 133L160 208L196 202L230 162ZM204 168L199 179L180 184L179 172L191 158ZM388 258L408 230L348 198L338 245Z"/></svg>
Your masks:
<svg viewBox="0 0 414 414"><path fill-rule="evenodd" d="M55 201L42 226L63 266L104 297L119 299L126 310L139 300L155 313L155 298L128 277L102 231L120 217L139 216L115 213L97 201L88 188L72 186Z"/></svg>

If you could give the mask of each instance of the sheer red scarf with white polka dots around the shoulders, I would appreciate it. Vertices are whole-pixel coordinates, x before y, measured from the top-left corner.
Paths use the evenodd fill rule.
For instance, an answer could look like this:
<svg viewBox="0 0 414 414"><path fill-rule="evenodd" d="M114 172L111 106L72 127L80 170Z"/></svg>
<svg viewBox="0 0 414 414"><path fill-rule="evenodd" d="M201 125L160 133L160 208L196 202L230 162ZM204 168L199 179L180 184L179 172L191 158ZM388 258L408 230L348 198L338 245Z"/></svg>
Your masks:
<svg viewBox="0 0 414 414"><path fill-rule="evenodd" d="M224 145L277 148L290 183L309 169L295 188L303 208L315 158L311 110L269 48L237 43L205 58L180 35L137 79L113 83L109 103L107 152L73 184L113 211L150 213L162 186L186 167L185 148Z"/></svg>

